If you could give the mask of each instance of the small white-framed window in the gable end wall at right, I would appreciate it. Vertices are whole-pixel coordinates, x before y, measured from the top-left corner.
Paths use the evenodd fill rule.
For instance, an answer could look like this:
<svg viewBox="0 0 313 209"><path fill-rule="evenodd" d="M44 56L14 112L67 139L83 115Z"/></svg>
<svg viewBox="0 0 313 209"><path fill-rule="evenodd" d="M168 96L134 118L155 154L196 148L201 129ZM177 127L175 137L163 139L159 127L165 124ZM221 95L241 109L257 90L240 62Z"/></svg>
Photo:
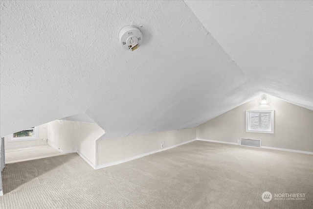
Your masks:
<svg viewBox="0 0 313 209"><path fill-rule="evenodd" d="M246 132L274 133L274 111L246 111Z"/></svg>

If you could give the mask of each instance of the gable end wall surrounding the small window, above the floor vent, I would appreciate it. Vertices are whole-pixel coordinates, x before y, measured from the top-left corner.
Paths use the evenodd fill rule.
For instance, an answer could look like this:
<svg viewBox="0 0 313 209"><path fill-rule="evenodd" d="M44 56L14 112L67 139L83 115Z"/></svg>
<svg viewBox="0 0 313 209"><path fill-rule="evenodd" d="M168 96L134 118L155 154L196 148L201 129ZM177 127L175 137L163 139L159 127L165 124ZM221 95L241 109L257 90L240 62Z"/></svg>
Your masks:
<svg viewBox="0 0 313 209"><path fill-rule="evenodd" d="M261 139L262 146L313 152L313 111L268 96L261 96L197 127L197 139L237 143L237 139ZM246 132L247 110L275 110L274 134Z"/></svg>

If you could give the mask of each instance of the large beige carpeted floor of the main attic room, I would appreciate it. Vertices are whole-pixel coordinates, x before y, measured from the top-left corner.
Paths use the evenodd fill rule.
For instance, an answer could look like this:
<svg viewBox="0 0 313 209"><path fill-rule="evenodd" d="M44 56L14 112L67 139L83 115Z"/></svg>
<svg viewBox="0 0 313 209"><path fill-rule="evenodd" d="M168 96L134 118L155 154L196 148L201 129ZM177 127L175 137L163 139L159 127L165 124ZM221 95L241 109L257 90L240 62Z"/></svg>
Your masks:
<svg viewBox="0 0 313 209"><path fill-rule="evenodd" d="M313 208L313 155L205 141L100 170L77 154L12 163L2 178L1 209Z"/></svg>

